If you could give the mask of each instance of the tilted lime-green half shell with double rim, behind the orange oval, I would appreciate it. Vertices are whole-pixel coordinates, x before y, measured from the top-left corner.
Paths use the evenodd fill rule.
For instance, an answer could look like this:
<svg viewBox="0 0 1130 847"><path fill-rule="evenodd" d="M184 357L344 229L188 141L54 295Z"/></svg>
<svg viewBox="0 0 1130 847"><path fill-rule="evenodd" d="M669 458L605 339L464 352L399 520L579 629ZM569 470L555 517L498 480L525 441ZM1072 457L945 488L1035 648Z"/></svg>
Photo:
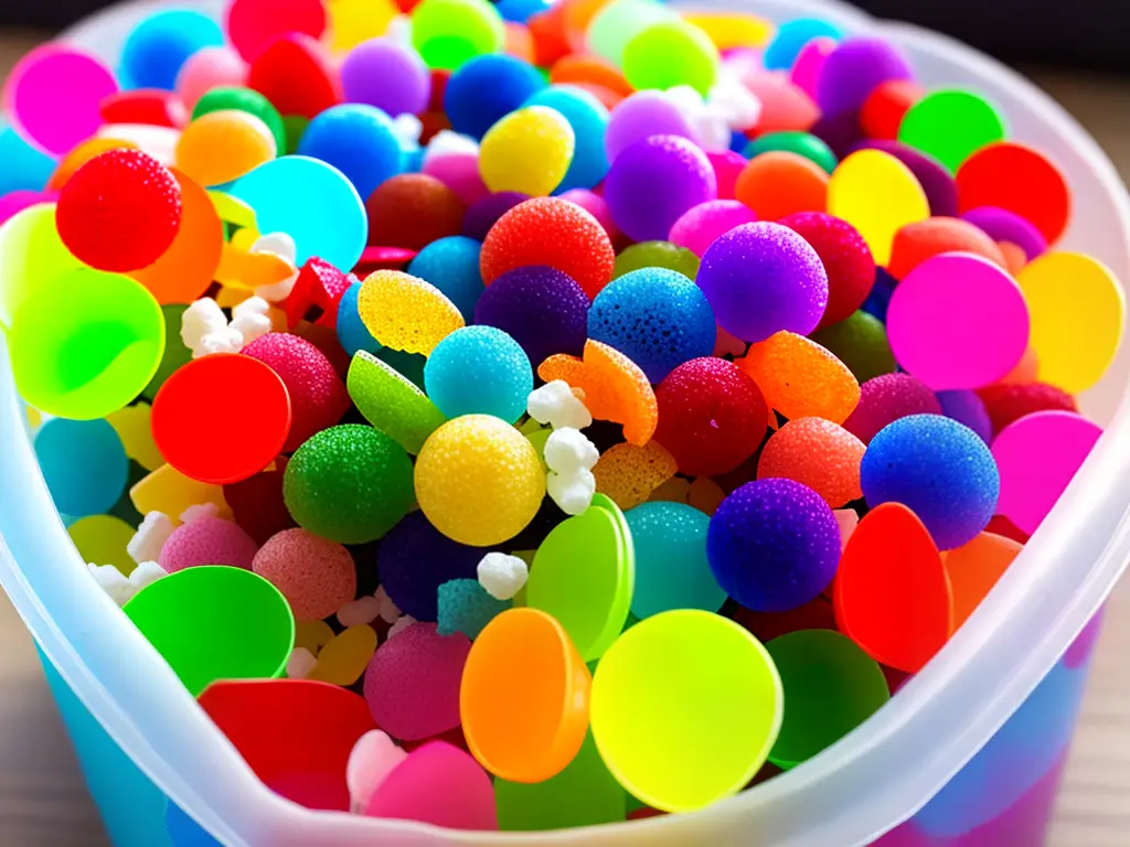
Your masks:
<svg viewBox="0 0 1130 847"><path fill-rule="evenodd" d="M525 603L556 618L581 657L591 662L624 629L634 588L627 523L616 504L597 495L584 514L563 521L541 542Z"/></svg>

